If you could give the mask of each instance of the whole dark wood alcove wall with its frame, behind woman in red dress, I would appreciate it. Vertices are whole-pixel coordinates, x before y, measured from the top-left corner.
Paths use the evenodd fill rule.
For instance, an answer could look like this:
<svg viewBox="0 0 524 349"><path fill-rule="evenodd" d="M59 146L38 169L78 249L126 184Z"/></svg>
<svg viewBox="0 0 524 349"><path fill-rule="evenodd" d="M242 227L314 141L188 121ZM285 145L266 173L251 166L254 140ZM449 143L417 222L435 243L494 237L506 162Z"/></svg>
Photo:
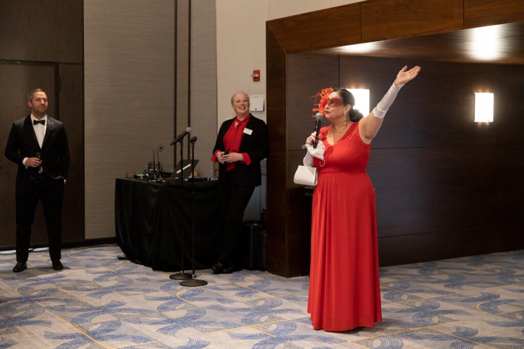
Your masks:
<svg viewBox="0 0 524 349"><path fill-rule="evenodd" d="M336 20L344 12L348 16L358 15L345 22ZM396 16L389 18L392 13ZM489 16L478 15L482 13ZM382 15L389 19L378 21ZM311 23L318 28L330 28L331 18L335 18L337 29L330 31L333 35L322 35L322 40L313 40L300 30ZM309 216L301 211L304 200L298 201L303 193L292 183L294 170L303 156L298 145L313 128L312 122L303 121L311 114L312 103L307 97L329 85L346 86L362 81L374 86L373 107L405 64L405 61L369 58L355 61L340 57L340 63L333 66L333 57L322 61L321 57L294 57L291 53L516 20L524 20L524 6L518 0L504 4L498 0L372 0L267 22L267 123L271 151L268 271L296 276L309 270L309 263L299 258L309 254L301 241L309 237L296 231L297 222ZM361 25L355 26L356 22ZM508 119L511 112L500 109L511 109L508 105L518 104L516 91L520 91L522 84L516 76L522 76L520 66L425 63L418 81L413 82L417 84L418 98L402 91L388 113L384 130L373 143L368 173L377 189L380 262L398 264L522 248L519 231L523 224L516 214L522 209L518 199L522 186L516 179L522 174L522 162L512 161L512 156L523 150L516 136L523 129L519 120ZM445 74L443 79L443 69L460 74ZM333 80L324 85L325 76ZM505 78L515 88L514 93L501 83L506 84ZM315 88L303 91L305 86ZM475 92L472 90L486 87L504 91L495 91L499 96L496 98L506 94L503 103L497 102L500 119L489 126L472 121ZM297 98L307 108L300 109ZM281 108L282 100L287 101L286 115ZM427 106L432 109L423 113ZM413 114L396 117L394 110L410 110ZM471 117L467 118L468 115ZM390 119L392 126L388 128Z"/></svg>

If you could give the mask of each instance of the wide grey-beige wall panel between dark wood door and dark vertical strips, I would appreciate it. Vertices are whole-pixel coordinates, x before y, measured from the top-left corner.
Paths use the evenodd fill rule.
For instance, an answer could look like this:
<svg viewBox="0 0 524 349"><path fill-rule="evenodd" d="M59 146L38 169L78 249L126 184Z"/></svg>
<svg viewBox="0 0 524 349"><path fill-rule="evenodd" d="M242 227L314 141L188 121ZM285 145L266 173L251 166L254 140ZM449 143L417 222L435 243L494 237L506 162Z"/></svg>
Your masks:
<svg viewBox="0 0 524 349"><path fill-rule="evenodd" d="M115 235L115 178L173 167L174 2L84 0L85 238Z"/></svg>

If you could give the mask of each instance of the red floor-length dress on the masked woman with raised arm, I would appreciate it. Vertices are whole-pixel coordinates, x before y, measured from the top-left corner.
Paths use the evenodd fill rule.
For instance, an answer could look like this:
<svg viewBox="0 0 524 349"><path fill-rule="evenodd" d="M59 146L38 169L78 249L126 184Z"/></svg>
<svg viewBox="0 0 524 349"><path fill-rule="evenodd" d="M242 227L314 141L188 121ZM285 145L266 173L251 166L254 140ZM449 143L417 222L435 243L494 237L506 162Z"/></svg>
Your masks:
<svg viewBox="0 0 524 349"><path fill-rule="evenodd" d="M313 193L308 313L313 328L344 331L382 321L378 278L375 190L366 173L370 145L354 122L325 145Z"/></svg>

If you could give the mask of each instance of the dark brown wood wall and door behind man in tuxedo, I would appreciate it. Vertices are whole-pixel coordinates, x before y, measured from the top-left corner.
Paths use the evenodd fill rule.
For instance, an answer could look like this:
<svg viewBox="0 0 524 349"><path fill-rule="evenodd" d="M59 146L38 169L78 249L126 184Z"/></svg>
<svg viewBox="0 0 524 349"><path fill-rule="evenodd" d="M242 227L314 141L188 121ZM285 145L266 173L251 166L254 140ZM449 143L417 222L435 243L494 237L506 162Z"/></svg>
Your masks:
<svg viewBox="0 0 524 349"><path fill-rule="evenodd" d="M48 115L64 122L71 151L71 170L64 194L62 240L84 240L84 94L83 1L3 0L0 5L0 146L4 149L12 122L29 114L27 93L46 91ZM16 165L0 161L0 249L15 245ZM31 245L47 245L41 205L32 226Z"/></svg>

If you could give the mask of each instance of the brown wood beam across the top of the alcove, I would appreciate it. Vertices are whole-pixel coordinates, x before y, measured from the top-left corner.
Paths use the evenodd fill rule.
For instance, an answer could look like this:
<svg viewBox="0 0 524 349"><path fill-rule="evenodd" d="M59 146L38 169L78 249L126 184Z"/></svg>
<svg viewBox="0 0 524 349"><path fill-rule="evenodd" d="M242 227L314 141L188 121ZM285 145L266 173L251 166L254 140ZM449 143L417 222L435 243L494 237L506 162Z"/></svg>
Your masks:
<svg viewBox="0 0 524 349"><path fill-rule="evenodd" d="M370 0L266 25L284 52L299 53L519 21L522 0Z"/></svg>

